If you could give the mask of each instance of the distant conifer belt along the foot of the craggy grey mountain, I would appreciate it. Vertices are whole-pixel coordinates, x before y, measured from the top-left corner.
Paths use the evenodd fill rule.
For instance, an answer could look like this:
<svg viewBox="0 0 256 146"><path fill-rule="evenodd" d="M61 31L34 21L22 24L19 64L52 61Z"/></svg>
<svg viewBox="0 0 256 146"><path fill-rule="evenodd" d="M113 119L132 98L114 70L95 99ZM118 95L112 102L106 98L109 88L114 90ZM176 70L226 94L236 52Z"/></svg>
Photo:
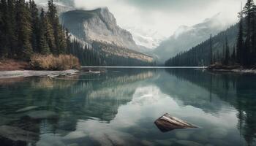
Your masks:
<svg viewBox="0 0 256 146"><path fill-rule="evenodd" d="M77 39L69 39L67 53L78 57L83 66L154 66L154 62L121 56L125 48L104 42L92 42L86 45ZM106 51L109 50L109 51ZM113 53L113 51L116 51Z"/></svg>

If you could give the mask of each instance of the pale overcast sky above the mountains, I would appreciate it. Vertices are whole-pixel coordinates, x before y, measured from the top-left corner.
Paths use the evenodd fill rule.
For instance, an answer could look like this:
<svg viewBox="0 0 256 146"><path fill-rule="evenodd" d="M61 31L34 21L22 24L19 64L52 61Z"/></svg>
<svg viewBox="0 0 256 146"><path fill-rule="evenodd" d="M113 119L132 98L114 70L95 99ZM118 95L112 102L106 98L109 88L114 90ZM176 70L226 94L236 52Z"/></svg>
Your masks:
<svg viewBox="0 0 256 146"><path fill-rule="evenodd" d="M246 0L75 0L77 7L108 7L123 28L151 29L165 37L178 26L192 26L221 12L223 23L235 23Z"/></svg>

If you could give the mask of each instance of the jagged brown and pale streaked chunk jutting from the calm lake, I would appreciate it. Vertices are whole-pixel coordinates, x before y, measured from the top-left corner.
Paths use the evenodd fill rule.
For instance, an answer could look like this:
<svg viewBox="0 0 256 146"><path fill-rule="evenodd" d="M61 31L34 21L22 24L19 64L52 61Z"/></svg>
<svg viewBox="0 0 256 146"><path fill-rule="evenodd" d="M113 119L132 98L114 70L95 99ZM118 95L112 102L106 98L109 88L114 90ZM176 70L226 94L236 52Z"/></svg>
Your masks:
<svg viewBox="0 0 256 146"><path fill-rule="evenodd" d="M171 117L167 113L158 118L154 123L162 132L172 131L177 128L197 128L197 126L193 126L192 124L184 122L178 118Z"/></svg>

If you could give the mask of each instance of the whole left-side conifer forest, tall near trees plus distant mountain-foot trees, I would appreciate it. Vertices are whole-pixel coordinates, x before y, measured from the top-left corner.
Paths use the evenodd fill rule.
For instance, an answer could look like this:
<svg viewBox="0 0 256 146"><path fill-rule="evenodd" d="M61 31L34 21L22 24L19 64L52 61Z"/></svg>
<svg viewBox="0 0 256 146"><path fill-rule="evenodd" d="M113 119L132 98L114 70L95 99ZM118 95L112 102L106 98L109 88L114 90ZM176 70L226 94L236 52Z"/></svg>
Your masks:
<svg viewBox="0 0 256 146"><path fill-rule="evenodd" d="M99 45L100 44L100 45ZM111 47L121 54L103 51ZM115 50L116 49L116 50ZM149 66L151 62L124 56L124 49L115 45L94 42L85 45L59 23L53 0L48 1L48 11L39 9L34 0L0 1L0 58L30 61L34 54L59 56L71 54L83 66Z"/></svg>

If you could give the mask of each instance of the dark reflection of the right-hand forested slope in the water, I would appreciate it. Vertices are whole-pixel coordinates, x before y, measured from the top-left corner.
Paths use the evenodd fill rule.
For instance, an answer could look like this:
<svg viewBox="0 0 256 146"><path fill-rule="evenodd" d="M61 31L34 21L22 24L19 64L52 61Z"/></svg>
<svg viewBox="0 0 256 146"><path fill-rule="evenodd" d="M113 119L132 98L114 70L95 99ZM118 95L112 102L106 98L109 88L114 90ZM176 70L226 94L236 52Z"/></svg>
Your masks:
<svg viewBox="0 0 256 146"><path fill-rule="evenodd" d="M237 128L246 140L246 145L255 145L256 136L256 76L254 74L218 74L214 72L199 72L182 69L167 70L178 78L192 82L226 101L236 108L238 118ZM209 81L209 82L207 82Z"/></svg>

